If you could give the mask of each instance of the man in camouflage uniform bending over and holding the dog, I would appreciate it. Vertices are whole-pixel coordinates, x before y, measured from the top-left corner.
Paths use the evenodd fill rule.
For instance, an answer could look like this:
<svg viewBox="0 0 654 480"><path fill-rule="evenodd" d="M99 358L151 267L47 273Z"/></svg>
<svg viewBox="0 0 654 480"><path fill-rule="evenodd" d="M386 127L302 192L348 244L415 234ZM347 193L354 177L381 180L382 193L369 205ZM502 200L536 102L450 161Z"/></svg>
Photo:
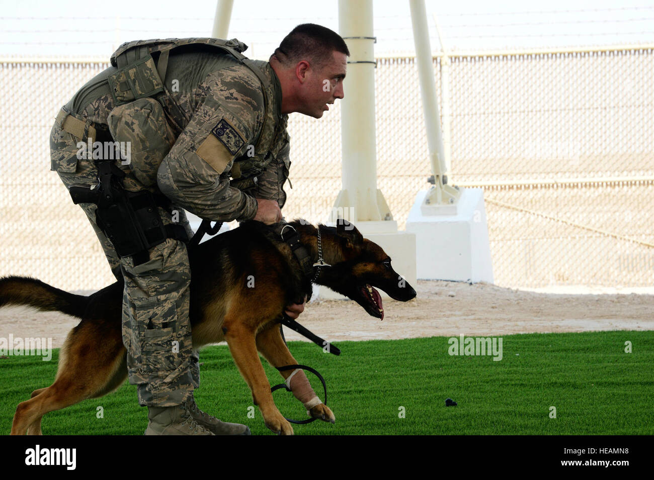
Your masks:
<svg viewBox="0 0 654 480"><path fill-rule="evenodd" d="M147 219L135 227L145 247L134 252L122 221L102 208L96 217L97 204L80 202L114 276L124 280L123 343L129 383L148 407L146 435L250 433L193 399L199 357L185 244L193 232L184 210L211 221L280 221L288 114L320 118L343 98L349 51L334 31L298 25L268 62L247 59L245 48L235 39L124 44L112 67L63 106L50 136L51 169L66 187L98 184L97 162L115 159L112 178L123 177L129 208ZM163 236L150 241L152 232ZM297 318L303 308L286 313Z"/></svg>

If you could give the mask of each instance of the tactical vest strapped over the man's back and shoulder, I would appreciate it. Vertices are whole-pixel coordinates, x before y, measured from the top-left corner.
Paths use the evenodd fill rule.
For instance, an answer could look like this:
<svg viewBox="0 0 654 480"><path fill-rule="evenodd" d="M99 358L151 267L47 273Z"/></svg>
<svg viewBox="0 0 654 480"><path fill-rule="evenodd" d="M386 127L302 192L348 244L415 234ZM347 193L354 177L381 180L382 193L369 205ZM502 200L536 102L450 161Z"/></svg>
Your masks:
<svg viewBox="0 0 654 480"><path fill-rule="evenodd" d="M122 44L111 56L111 65L118 72L109 77L111 95L120 106L142 98L155 98L164 110L175 112L177 118L184 118L174 99L167 93L163 85L170 52L181 46L203 45L216 48L235 57L247 66L262 85L264 96L264 123L254 144L254 156L243 155L234 160L230 176L232 185L247 188L256 184L254 176L277 157L279 150L287 138L284 134L286 122L281 121L275 109L275 89L266 72L261 67L266 62L254 61L245 57L242 52L247 45L237 39L222 40L211 38L136 40ZM154 54L154 55L153 55ZM157 57L155 63L154 57ZM181 125L175 125L181 131ZM288 167L288 165L287 165Z"/></svg>

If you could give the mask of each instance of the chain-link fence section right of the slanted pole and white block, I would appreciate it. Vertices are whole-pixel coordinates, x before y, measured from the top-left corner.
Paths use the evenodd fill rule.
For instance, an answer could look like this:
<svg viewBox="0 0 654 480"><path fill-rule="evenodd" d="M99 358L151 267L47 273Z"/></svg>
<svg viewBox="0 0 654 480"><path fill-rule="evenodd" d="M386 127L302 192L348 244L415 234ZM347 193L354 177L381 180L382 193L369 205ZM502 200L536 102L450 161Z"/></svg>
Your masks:
<svg viewBox="0 0 654 480"><path fill-rule="evenodd" d="M452 179L485 189L496 283L651 286L651 48L451 58Z"/></svg>

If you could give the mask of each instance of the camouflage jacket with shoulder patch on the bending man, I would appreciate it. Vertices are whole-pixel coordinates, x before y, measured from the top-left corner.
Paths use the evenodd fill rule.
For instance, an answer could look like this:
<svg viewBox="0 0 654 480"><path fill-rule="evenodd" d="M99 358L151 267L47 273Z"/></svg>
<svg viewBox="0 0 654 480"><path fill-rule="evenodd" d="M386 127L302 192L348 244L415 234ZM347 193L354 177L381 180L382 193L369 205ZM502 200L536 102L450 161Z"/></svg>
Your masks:
<svg viewBox="0 0 654 480"><path fill-rule="evenodd" d="M156 170L150 172L156 176L154 188L176 205L213 221L251 219L257 210L255 197L277 200L283 207L289 136L277 74L268 62L252 62L269 80L264 92L258 76L229 54L178 50L171 52L163 78L162 105L168 135L174 138L163 161L149 166ZM96 76L67 107L107 124L116 107L107 79L117 71L110 67ZM268 112L265 129L264 112Z"/></svg>

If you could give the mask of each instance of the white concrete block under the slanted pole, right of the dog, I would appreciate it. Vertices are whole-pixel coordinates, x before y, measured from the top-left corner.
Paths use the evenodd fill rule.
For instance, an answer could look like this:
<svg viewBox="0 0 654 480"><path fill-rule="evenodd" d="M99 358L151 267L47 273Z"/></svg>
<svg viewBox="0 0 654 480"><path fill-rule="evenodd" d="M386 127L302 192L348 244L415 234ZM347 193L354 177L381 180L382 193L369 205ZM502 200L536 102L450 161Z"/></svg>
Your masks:
<svg viewBox="0 0 654 480"><path fill-rule="evenodd" d="M406 223L416 237L417 278L492 283L483 190L463 189L453 215L426 215L426 195L418 193Z"/></svg>

